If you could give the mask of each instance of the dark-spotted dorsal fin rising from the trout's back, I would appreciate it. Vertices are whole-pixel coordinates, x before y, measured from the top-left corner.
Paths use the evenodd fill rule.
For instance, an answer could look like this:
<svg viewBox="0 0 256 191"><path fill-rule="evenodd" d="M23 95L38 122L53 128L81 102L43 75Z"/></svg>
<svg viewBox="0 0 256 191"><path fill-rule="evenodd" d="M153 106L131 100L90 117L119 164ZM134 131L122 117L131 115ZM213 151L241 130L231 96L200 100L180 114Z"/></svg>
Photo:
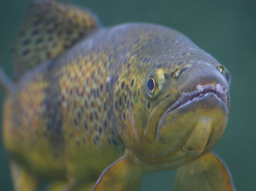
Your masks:
<svg viewBox="0 0 256 191"><path fill-rule="evenodd" d="M86 9L52 0L33 2L11 50L14 79L57 57L99 26L97 17Z"/></svg>

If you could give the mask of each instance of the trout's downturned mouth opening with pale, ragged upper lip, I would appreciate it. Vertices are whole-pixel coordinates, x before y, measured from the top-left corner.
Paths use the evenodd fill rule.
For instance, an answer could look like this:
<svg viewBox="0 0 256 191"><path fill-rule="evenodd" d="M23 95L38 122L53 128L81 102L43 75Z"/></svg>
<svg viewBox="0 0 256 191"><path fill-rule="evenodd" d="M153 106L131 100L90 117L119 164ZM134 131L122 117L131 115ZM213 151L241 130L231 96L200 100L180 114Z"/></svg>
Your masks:
<svg viewBox="0 0 256 191"><path fill-rule="evenodd" d="M157 134L160 133L162 122L167 114L188 104L202 100L209 95L214 95L220 102L223 102L226 105L227 110L229 110L229 100L227 94L228 89L224 89L220 84L197 85L195 91L182 93L182 96L175 103L173 103L162 116L158 125Z"/></svg>

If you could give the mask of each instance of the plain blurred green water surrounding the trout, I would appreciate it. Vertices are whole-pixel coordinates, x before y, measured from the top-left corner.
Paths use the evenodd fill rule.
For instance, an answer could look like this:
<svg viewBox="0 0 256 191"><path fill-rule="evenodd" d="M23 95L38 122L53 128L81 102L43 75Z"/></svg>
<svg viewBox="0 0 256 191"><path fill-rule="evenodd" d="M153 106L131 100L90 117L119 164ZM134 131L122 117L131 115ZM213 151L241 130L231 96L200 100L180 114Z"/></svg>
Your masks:
<svg viewBox="0 0 256 191"><path fill-rule="evenodd" d="M11 76L10 48L30 0L0 0L0 66ZM256 190L256 1L73 0L104 26L150 22L174 28L213 55L232 75L227 128L213 151L228 165L238 191ZM3 92L0 91L2 108ZM0 108L0 109L1 109ZM0 191L12 190L0 139ZM141 191L171 190L175 170L143 175Z"/></svg>

